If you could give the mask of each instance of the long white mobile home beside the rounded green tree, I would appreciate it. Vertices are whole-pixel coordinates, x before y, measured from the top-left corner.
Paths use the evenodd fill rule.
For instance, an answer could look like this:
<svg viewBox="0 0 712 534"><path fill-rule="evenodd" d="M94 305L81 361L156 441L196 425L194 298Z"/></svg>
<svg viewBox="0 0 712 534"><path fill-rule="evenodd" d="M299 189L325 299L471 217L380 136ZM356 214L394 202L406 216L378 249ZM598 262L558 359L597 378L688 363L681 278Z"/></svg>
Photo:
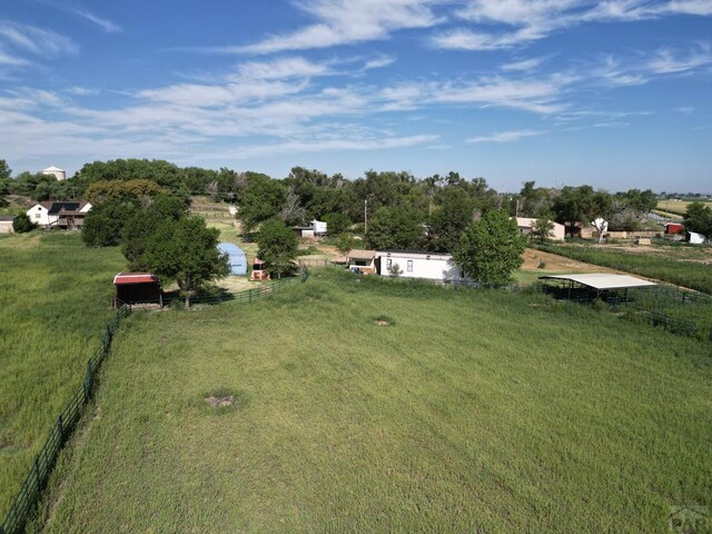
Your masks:
<svg viewBox="0 0 712 534"><path fill-rule="evenodd" d="M393 274L398 266L398 275ZM378 250L376 267L380 276L423 278L437 281L463 279L463 271L455 265L449 253L426 253L422 250Z"/></svg>

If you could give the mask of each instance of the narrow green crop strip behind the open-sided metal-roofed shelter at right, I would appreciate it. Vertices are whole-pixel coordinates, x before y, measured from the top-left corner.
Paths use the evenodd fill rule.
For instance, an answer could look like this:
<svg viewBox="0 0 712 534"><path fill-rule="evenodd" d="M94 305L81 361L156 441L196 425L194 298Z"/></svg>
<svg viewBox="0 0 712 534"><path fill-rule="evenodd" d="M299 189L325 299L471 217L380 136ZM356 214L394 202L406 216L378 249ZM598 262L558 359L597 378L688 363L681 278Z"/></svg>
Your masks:
<svg viewBox="0 0 712 534"><path fill-rule="evenodd" d="M712 294L712 266L653 254L634 254L620 249L604 250L577 245L542 245L541 250L580 261L625 270L678 286ZM673 247L663 247L673 249Z"/></svg>

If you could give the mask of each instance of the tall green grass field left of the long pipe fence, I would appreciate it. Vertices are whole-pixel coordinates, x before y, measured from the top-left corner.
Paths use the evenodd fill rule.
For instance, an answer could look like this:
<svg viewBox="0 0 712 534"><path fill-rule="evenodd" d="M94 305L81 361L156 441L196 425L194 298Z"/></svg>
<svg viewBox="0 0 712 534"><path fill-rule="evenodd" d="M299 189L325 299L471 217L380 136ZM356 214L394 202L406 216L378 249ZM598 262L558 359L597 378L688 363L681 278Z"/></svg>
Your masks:
<svg viewBox="0 0 712 534"><path fill-rule="evenodd" d="M101 343L122 265L76 234L0 238L0 521Z"/></svg>

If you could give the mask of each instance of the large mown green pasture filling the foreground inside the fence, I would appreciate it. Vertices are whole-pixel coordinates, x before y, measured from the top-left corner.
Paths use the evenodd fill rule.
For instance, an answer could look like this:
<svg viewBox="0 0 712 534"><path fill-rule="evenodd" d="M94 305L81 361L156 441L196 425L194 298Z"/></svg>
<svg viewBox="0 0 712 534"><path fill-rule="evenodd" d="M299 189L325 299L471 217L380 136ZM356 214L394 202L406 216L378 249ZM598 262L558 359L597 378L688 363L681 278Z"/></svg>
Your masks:
<svg viewBox="0 0 712 534"><path fill-rule="evenodd" d="M664 533L712 505L709 345L609 313L314 270L113 347L44 532Z"/></svg>

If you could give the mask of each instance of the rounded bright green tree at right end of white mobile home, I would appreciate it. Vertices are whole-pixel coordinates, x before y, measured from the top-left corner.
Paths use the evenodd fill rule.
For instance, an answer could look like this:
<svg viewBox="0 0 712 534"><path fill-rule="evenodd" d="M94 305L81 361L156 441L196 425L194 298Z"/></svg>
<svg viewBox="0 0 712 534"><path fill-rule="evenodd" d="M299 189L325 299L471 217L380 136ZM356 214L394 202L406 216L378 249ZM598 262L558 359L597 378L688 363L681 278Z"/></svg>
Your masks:
<svg viewBox="0 0 712 534"><path fill-rule="evenodd" d="M502 286L512 281L512 273L524 263L525 248L526 238L516 221L506 211L492 209L467 227L453 256L466 276Z"/></svg>

